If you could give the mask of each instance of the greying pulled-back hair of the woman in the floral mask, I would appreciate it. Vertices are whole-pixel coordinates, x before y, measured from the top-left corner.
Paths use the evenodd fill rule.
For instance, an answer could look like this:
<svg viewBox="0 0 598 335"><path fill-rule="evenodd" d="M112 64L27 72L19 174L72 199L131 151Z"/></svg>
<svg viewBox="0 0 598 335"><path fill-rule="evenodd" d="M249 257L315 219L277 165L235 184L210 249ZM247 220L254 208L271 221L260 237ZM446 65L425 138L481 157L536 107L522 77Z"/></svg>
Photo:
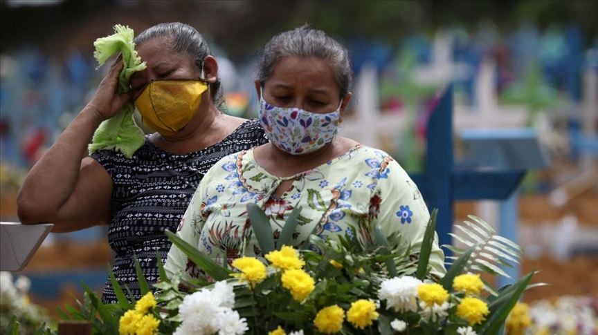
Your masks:
<svg viewBox="0 0 598 335"><path fill-rule="evenodd" d="M262 86L272 75L278 61L287 56L316 57L328 61L341 88L341 99L349 92L352 73L347 49L322 30L311 29L306 24L272 37L264 47L257 66L257 80Z"/></svg>

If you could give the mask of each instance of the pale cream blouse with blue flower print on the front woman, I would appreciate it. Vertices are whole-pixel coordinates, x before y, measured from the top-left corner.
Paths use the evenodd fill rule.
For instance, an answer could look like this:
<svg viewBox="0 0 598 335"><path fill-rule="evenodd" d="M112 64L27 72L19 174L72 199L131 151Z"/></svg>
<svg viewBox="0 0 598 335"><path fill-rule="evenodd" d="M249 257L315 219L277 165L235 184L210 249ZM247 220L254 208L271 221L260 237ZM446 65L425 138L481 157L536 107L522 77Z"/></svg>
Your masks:
<svg viewBox="0 0 598 335"><path fill-rule="evenodd" d="M275 198L273 194L284 180L293 180L293 184ZM312 232L331 238L352 233L350 225L367 245L372 242L370 227L379 224L387 236L399 231L417 252L430 218L415 183L388 153L378 149L360 144L315 169L284 178L257 164L250 149L224 157L206 173L177 235L219 264L225 257L230 264L240 256L262 256L246 213L250 202L264 209L275 239L291 211L302 208L293 247L299 247ZM430 258L432 274L442 276L443 263L436 237ZM180 271L185 271L183 278L198 274L174 245L165 269L169 276Z"/></svg>

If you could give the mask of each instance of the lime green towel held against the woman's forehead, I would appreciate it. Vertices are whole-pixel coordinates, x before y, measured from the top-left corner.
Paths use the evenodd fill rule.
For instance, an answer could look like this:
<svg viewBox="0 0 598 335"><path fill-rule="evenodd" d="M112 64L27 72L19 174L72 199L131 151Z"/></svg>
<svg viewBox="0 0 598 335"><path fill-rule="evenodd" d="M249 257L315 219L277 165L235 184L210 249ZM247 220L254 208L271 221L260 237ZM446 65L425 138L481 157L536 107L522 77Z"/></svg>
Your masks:
<svg viewBox="0 0 598 335"><path fill-rule="evenodd" d="M127 93L129 91L129 79L136 71L146 68L145 61L141 62L141 57L137 55L135 44L133 43L133 30L128 26L114 26L114 35L96 39L93 46L99 66L102 66L110 57L120 52L123 55L123 70L118 76L118 93ZM127 102L114 117L105 120L100 124L96 133L93 134L93 140L89 144L89 152L98 150L113 149L122 152L125 156L131 158L137 149L143 146L145 138L143 131L139 128L133 119L135 106L133 102Z"/></svg>

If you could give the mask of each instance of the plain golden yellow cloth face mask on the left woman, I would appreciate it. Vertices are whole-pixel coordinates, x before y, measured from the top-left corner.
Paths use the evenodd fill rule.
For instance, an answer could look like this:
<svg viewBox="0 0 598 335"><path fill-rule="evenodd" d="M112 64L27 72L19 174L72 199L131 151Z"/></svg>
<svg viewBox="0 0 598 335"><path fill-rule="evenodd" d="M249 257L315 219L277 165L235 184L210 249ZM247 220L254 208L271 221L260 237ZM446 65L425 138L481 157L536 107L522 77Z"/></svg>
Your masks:
<svg viewBox="0 0 598 335"><path fill-rule="evenodd" d="M186 126L201 104L208 84L201 80L152 80L135 100L143 123L162 135Z"/></svg>

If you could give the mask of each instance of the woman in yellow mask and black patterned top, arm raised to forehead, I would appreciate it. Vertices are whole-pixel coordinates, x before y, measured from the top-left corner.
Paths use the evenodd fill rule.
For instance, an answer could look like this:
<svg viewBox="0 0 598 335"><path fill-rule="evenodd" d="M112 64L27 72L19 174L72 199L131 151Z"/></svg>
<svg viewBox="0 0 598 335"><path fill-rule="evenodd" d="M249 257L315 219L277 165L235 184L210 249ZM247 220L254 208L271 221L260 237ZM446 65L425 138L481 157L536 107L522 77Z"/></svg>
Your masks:
<svg viewBox="0 0 598 335"><path fill-rule="evenodd" d="M132 76L131 92L115 93L123 67L116 61L89 104L31 169L18 210L21 222L53 222L55 232L109 225L108 240L116 252L112 271L140 298L134 256L148 282L156 283L156 251L165 260L170 248L163 231L176 229L206 171L222 157L267 139L257 120L218 109L223 98L217 61L197 30L161 23L134 42L147 68ZM183 94L202 90L199 96ZM129 99L157 132L146 136L131 159L114 151L86 157L93 131ZM148 99L163 109L154 111ZM109 280L102 300L116 302Z"/></svg>

